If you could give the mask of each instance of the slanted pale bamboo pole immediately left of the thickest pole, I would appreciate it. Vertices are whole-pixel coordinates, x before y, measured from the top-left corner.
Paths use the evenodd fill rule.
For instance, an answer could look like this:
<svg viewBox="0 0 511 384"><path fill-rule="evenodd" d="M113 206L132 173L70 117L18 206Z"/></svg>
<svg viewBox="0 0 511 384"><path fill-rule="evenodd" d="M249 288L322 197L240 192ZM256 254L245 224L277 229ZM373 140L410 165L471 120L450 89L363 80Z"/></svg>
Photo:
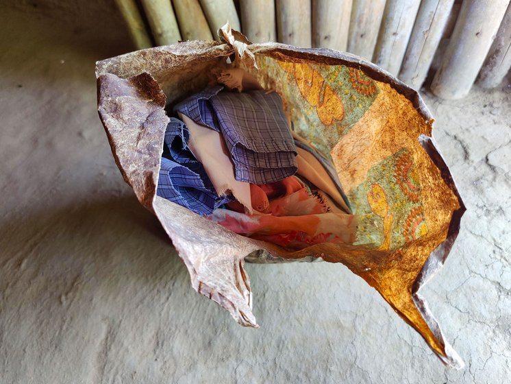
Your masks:
<svg viewBox="0 0 511 384"><path fill-rule="evenodd" d="M399 79L421 88L449 20L454 0L423 0L406 49Z"/></svg>

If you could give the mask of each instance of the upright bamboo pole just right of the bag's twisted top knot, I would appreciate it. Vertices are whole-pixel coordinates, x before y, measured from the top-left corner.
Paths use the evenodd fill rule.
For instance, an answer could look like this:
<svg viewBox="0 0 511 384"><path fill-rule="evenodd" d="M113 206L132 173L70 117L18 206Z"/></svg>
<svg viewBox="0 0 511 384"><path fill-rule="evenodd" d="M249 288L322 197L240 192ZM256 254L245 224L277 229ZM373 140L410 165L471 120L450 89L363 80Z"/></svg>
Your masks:
<svg viewBox="0 0 511 384"><path fill-rule="evenodd" d="M275 0L245 0L240 2L243 34L253 43L275 41Z"/></svg>

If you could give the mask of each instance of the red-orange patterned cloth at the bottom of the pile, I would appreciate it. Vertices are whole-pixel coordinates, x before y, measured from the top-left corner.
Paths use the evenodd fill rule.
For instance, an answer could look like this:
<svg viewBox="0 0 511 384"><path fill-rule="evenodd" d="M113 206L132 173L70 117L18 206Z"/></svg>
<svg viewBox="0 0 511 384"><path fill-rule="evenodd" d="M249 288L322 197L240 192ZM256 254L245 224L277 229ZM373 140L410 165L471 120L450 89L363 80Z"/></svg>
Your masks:
<svg viewBox="0 0 511 384"><path fill-rule="evenodd" d="M296 176L258 187L269 199L268 213L247 215L219 208L208 217L240 235L292 250L316 243L356 241L358 217L331 212Z"/></svg>

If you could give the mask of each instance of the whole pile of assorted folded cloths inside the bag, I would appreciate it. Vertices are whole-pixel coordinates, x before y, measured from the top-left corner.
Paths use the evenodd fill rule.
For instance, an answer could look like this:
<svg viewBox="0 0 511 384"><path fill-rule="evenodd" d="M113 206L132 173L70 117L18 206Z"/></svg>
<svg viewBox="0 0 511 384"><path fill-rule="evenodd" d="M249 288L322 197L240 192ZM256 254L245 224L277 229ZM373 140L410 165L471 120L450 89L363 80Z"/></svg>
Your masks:
<svg viewBox="0 0 511 384"><path fill-rule="evenodd" d="M241 235L300 249L355 241L331 163L293 137L277 93L214 86L174 107L158 195Z"/></svg>

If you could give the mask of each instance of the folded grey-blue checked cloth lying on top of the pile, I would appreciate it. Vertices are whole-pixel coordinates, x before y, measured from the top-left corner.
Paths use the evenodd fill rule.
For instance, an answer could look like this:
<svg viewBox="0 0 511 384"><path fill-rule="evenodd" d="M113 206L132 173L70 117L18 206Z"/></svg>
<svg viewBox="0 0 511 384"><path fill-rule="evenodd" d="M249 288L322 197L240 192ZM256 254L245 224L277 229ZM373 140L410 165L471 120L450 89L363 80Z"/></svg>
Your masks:
<svg viewBox="0 0 511 384"><path fill-rule="evenodd" d="M221 132L236 180L268 184L294 175L297 153L280 96L264 90L222 90L223 86L206 88L177 104L174 111Z"/></svg>

